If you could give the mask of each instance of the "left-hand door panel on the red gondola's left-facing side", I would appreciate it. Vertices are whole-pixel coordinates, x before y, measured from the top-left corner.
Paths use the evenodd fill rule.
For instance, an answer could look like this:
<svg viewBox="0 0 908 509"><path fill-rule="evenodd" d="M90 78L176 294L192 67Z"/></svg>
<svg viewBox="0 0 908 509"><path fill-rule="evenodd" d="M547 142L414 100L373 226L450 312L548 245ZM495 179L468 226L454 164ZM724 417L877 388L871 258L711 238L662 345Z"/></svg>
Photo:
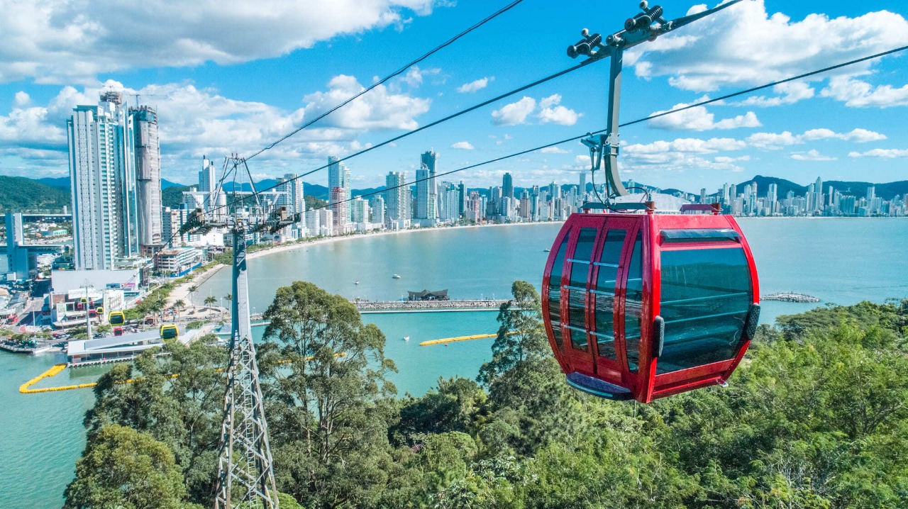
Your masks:
<svg viewBox="0 0 908 509"><path fill-rule="evenodd" d="M604 220L604 214L581 214L575 221L561 279L564 351L570 367L584 375L596 374L593 347L587 334L587 310L592 308L588 283L593 269L593 251Z"/></svg>

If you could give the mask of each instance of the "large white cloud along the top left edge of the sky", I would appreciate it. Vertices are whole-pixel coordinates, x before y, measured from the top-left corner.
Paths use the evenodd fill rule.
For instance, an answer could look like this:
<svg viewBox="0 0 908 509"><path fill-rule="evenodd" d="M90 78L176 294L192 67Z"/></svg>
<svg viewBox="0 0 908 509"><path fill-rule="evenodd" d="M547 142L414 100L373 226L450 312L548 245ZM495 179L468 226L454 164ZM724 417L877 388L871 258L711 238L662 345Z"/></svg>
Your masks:
<svg viewBox="0 0 908 509"><path fill-rule="evenodd" d="M134 67L235 64L427 15L433 0L0 0L0 83L95 83Z"/></svg>

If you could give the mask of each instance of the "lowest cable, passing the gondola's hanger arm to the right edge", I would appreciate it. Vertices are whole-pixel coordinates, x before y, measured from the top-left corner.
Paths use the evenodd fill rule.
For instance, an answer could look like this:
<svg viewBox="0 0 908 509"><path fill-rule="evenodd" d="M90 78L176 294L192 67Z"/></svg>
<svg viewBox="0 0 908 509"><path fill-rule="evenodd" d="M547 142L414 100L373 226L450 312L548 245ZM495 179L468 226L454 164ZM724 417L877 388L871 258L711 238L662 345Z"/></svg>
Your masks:
<svg viewBox="0 0 908 509"><path fill-rule="evenodd" d="M730 98L732 98L732 97L736 97L736 96L739 96L739 95L744 95L744 94L746 94L746 93L753 93L753 92L756 92L756 91L759 91L759 90L763 90L763 89L765 89L765 88L769 88L769 87L775 86L775 85L777 85L777 84L792 82L792 81L799 80L799 79L802 79L802 78L805 78L805 77L808 77L808 76L813 76L814 74L826 73L826 72L828 72L828 71L833 71L834 69L839 69L839 68L841 68L841 67L845 67L845 66L848 66L848 65L860 64L861 62L865 62L865 61L867 61L867 60L872 60L872 59L874 59L874 58L879 58L879 57L885 56L885 55L887 55L887 54L895 54L895 53L898 53L898 52L902 52L902 51L904 51L904 50L908 50L908 46L902 46L902 47L895 48L895 49L892 49L892 50L889 50L889 51L884 51L884 52L882 52L882 53L872 54L872 55L870 55L870 56L864 56L863 58L858 58L858 59L855 59L855 60L851 60L851 61L845 62L845 63L843 63L843 64L831 65L831 66L829 66L829 67L824 67L823 69L818 69L818 70L816 70L816 71L811 71L810 73L798 74L798 75L793 76L793 77L790 77L790 78L785 78L785 79L783 79L783 80L778 80L778 81L775 81L775 82L772 82L772 83L765 83L765 84L762 84L762 85L759 85L759 86L755 86L755 87L752 87L752 88L748 88L748 89L746 89L746 90L738 91L738 92L735 92L735 93L727 93L727 94L725 94L725 95L723 95L723 96L721 96L721 97L716 97L715 99L707 99L707 100L705 100L705 101L700 101L700 102L698 102L698 103L688 104L688 105L686 105L686 106L682 106L682 107L680 107L680 108L675 108L675 109L672 109L672 110L668 110L668 111L666 111L666 112L655 113L655 114L652 114L652 115L649 115L649 116L646 116L646 117L643 117L643 118L639 118L639 119L637 119L637 120L633 120L633 121L630 121L630 122L621 123L621 124L619 124L619 127L625 127L625 126L627 126L627 125L634 125L635 123L646 122L647 120L653 120L653 119L655 119L655 118L662 117L662 116L665 116L665 115L668 115L668 114L671 114L671 113L683 112L683 111L689 110L689 109L691 109L691 108L696 108L697 106L703 106L703 105L709 104L709 103L716 103L716 102L718 102L718 101L723 101L723 100L725 100L725 99L730 99ZM437 179L437 178L439 178L439 177L444 177L444 176L450 175L451 173L458 173L459 171L472 170L472 169L474 169L474 168L478 168L479 166L485 166L485 165L491 164L491 163L493 163L493 162L504 161L504 160L507 160L507 159L511 159L511 158L514 158L514 157L518 157L518 156L520 156L520 155L528 154L528 153L530 153L530 152L536 152L536 151L538 151L538 150L547 149L548 147L555 147L555 146L558 146L558 145L560 145L560 144L562 144L562 143L576 142L577 140L580 140L580 139L582 139L582 138L586 138L587 136L591 136L591 135L594 135L594 134L601 134L601 133L606 132L606 131L607 131L606 129L600 129L599 131L595 131L595 132L587 132L586 134L581 134L581 135L579 135L579 136L573 136L573 137L571 137L571 138L566 138L566 139L560 140L560 141L558 141L558 142L551 142L551 143L548 143L548 144L545 144L545 145L539 145L538 147L534 147L534 148L532 148L532 149L527 149L527 150L525 150L525 151L514 152L514 153L511 153L511 154L508 154L508 155L504 155L504 156L501 156L501 157L498 157L498 158L495 158L495 159L490 159L489 161L477 162L476 164L470 164L469 166L464 166L464 167L458 168L458 169L456 169L456 170L451 170L451 171L445 171L445 172L443 172L443 173L438 173L438 174L436 174L436 175L434 175L434 176L432 176L432 177L427 177L427 178L425 178L425 179L419 179L419 180L417 180L417 181L412 181L412 182L408 182L408 183L396 185L396 186L393 186L393 187L390 187L390 188L385 188L385 189L383 189L383 190L381 190L381 191L372 191L372 192L368 192L368 193L366 193L366 194L360 194L360 195L358 195L358 196L356 196L356 197L353 197L353 198L350 198L350 199L344 200L344 201L353 201L353 200L355 200L356 198L364 198L364 197L372 196L372 195L375 195L375 194L380 194L380 193L383 193L383 192L385 192L385 191L391 191L391 190L395 190L395 189L400 189L401 187L408 187L408 186L414 185L414 184L419 183L419 182L422 182L422 181L428 181L429 179ZM352 157L352 156L350 156L350 157ZM344 202L344 201L341 201L341 202ZM322 205L321 207L315 207L315 208L312 208L312 209L310 209L310 210L320 210L320 209L325 209L325 208L327 208L327 207L329 207L329 205Z"/></svg>

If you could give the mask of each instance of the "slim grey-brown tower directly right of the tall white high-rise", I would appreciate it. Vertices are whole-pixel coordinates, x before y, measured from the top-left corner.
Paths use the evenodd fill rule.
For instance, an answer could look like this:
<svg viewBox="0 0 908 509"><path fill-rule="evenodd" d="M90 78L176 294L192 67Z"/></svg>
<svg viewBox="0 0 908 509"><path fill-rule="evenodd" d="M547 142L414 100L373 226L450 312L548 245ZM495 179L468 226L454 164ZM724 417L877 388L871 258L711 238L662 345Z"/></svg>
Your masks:
<svg viewBox="0 0 908 509"><path fill-rule="evenodd" d="M140 250L153 248L163 241L161 220L161 145L158 140L158 114L153 108L129 109L129 134L135 163L135 216L138 221ZM126 168L129 171L129 164Z"/></svg>

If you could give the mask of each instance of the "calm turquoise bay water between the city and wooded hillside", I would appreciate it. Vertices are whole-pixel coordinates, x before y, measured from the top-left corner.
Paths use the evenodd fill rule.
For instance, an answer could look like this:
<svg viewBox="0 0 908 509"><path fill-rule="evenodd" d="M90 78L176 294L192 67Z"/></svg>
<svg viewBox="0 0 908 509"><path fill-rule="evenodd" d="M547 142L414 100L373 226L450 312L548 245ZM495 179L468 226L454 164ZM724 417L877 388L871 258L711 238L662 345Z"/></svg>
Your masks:
<svg viewBox="0 0 908 509"><path fill-rule="evenodd" d="M754 250L761 292L792 290L824 303L883 302L908 297L908 220L740 220ZM541 282L544 249L560 224L426 230L364 236L271 254L250 261L256 311L293 280L310 280L350 299L400 299L407 290L449 289L452 299L506 298L515 279ZM400 274L400 279L391 279ZM230 271L203 284L193 299L231 292ZM360 284L357 285L356 281ZM763 322L815 304L764 302ZM419 341L497 329L494 312L364 315L388 338L385 355L399 372L400 395L421 395L439 377L475 377L490 357L491 339L419 347ZM258 334L262 330L257 331ZM404 341L410 336L410 341ZM65 485L84 447L82 419L94 396L88 389L20 395L18 387L61 357L0 352L0 507L62 505ZM93 381L105 367L66 370L36 387Z"/></svg>

